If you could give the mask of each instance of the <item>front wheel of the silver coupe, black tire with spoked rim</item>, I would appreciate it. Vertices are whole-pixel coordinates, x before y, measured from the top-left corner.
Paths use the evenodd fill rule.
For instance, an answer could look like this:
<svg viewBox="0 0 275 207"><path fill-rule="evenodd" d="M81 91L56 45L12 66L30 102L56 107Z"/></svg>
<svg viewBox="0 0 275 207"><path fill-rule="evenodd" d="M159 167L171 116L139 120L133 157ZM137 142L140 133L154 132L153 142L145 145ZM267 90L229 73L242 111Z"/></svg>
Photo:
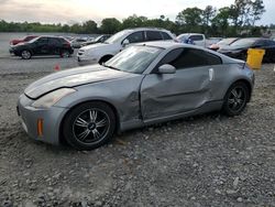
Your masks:
<svg viewBox="0 0 275 207"><path fill-rule="evenodd" d="M96 111L96 113L95 113ZM64 119L63 134L76 150L94 150L106 144L114 133L116 116L105 102L85 102Z"/></svg>

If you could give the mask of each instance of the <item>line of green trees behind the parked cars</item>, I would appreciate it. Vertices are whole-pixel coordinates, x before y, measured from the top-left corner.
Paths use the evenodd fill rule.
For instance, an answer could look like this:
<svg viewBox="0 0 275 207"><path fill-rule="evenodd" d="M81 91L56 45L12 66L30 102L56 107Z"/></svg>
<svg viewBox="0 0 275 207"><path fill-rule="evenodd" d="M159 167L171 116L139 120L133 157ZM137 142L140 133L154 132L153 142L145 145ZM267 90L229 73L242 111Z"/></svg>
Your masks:
<svg viewBox="0 0 275 207"><path fill-rule="evenodd" d="M205 9L197 7L186 8L180 11L175 21L160 15L157 19L148 19L136 14L122 21L116 18L107 18L98 25L89 20L84 23L68 24L42 24L38 22L7 22L0 21L0 32L64 32L79 34L113 34L129 28L154 26L164 28L175 34L185 32L199 32L208 36L240 36L261 35L266 26L256 26L265 12L263 0L235 0L233 4L216 9L207 6Z"/></svg>

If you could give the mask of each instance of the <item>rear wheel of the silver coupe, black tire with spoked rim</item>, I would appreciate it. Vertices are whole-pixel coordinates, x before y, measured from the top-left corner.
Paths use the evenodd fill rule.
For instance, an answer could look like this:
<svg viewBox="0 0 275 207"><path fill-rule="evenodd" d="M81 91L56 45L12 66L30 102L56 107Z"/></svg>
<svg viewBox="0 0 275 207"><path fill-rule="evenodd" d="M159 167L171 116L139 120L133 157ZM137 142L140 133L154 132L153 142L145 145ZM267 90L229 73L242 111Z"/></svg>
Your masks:
<svg viewBox="0 0 275 207"><path fill-rule="evenodd" d="M248 103L249 96L249 88L244 83L234 83L224 96L223 112L229 117L241 115Z"/></svg>

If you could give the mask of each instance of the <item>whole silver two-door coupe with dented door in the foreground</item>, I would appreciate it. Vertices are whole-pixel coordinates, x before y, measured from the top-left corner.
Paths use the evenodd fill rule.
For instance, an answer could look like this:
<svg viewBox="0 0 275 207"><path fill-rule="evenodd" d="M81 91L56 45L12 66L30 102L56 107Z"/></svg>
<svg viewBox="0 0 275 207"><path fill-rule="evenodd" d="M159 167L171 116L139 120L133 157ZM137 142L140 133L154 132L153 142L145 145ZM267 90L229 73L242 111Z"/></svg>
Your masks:
<svg viewBox="0 0 275 207"><path fill-rule="evenodd" d="M18 112L28 134L78 150L107 143L114 132L222 110L240 115L254 74L238 59L172 42L130 46L103 65L77 67L31 84Z"/></svg>

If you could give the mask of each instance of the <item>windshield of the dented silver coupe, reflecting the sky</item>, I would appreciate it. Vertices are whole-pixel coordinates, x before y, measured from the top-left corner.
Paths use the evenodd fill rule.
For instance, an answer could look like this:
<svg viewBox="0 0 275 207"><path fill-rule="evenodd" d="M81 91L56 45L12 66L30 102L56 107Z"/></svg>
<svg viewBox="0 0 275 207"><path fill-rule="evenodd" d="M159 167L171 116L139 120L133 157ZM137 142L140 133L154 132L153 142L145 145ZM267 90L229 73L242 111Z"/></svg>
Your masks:
<svg viewBox="0 0 275 207"><path fill-rule="evenodd" d="M162 53L163 48L151 46L130 46L108 61L106 67L133 74L142 74Z"/></svg>

